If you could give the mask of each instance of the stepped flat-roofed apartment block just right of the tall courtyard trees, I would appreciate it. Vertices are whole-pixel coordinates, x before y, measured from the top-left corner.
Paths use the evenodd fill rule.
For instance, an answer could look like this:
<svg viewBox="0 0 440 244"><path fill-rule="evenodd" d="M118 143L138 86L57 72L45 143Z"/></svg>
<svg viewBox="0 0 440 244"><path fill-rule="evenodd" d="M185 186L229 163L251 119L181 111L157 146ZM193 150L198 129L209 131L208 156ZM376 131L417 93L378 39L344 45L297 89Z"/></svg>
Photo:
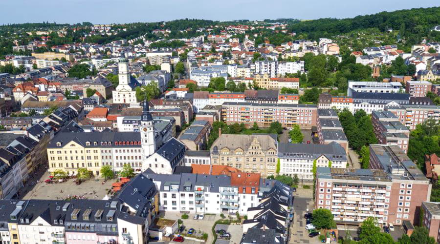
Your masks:
<svg viewBox="0 0 440 244"><path fill-rule="evenodd" d="M409 129L390 111L373 111L374 134L380 144L398 145L403 152L408 151Z"/></svg>

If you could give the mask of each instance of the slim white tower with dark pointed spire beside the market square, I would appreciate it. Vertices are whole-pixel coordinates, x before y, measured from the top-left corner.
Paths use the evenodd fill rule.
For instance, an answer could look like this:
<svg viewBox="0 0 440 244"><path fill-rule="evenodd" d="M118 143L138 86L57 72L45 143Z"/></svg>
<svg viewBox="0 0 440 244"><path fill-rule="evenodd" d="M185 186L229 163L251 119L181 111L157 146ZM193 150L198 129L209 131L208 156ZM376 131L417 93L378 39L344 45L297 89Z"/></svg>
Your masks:
<svg viewBox="0 0 440 244"><path fill-rule="evenodd" d="M139 131L141 133L142 156L145 161L150 155L154 154L156 148L153 117L151 116L148 102L146 100L143 102Z"/></svg>

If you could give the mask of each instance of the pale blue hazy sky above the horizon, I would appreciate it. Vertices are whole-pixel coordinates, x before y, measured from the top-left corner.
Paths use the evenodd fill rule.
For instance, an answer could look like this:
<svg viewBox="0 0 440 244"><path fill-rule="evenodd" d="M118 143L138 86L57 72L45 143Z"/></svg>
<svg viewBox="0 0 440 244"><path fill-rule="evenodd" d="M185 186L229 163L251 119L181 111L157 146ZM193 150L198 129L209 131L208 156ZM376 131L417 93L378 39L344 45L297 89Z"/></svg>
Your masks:
<svg viewBox="0 0 440 244"><path fill-rule="evenodd" d="M0 0L0 23L312 20L434 6L439 0Z"/></svg>

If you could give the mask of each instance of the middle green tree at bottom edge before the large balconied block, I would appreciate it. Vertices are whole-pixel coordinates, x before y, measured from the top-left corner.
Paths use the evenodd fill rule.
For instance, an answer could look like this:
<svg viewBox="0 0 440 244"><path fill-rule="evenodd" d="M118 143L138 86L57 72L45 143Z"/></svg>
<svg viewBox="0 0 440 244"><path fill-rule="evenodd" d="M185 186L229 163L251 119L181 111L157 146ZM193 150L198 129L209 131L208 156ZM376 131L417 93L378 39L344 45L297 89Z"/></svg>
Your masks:
<svg viewBox="0 0 440 244"><path fill-rule="evenodd" d="M313 216L314 217L314 216ZM362 244L393 244L393 238L390 234L380 232L380 227L376 226L376 221L368 217L362 222L359 238Z"/></svg>

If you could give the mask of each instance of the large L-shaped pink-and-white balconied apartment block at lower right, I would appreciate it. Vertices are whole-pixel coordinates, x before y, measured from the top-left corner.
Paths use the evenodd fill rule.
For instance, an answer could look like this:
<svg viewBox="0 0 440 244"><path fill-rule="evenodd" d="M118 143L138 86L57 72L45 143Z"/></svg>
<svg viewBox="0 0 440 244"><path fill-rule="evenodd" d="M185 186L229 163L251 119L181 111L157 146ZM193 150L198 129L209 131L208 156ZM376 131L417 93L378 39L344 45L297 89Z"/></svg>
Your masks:
<svg viewBox="0 0 440 244"><path fill-rule="evenodd" d="M337 224L418 224L431 184L397 145L370 145L370 168L317 168L315 208L329 209Z"/></svg>

